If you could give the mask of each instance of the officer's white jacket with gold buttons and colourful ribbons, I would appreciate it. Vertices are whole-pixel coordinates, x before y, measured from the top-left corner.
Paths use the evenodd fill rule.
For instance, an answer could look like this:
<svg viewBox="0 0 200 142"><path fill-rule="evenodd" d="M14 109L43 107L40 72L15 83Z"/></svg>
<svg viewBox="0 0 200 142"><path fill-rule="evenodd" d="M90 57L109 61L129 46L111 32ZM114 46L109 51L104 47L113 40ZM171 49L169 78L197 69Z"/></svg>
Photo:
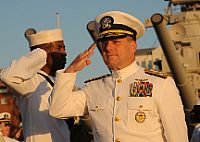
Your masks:
<svg viewBox="0 0 200 142"><path fill-rule="evenodd" d="M72 91L75 79L76 73L57 72L49 112L57 118L89 113L94 142L188 142L171 77L148 75L134 62L81 91Z"/></svg>

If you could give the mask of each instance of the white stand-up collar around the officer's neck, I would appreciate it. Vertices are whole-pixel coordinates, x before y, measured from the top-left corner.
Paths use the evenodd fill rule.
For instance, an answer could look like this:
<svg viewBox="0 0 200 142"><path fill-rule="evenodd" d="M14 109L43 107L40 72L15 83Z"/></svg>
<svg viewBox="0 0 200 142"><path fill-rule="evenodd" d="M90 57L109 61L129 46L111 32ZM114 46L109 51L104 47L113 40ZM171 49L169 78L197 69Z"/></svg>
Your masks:
<svg viewBox="0 0 200 142"><path fill-rule="evenodd" d="M132 64L130 64L126 68L123 68L123 69L118 70L118 71L112 70L112 75L113 75L113 78L115 78L115 79L118 79L118 78L125 79L126 77L135 73L138 69L139 69L139 66L134 61Z"/></svg>

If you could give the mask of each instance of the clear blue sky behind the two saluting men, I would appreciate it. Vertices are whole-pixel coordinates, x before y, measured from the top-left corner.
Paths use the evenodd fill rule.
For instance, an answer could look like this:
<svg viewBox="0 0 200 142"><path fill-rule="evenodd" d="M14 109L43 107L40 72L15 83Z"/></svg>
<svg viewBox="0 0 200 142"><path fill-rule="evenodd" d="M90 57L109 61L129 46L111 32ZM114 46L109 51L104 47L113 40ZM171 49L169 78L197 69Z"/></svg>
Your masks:
<svg viewBox="0 0 200 142"><path fill-rule="evenodd" d="M73 59L93 43L86 26L100 13L119 10L134 15L142 22L154 13L164 14L164 0L1 0L0 4L0 68L29 52L24 31L56 28L56 13L60 15L67 50L68 66ZM157 42L153 28L146 29L138 40L138 49L150 48ZM77 75L77 86L85 80L110 73L96 48L92 64Z"/></svg>

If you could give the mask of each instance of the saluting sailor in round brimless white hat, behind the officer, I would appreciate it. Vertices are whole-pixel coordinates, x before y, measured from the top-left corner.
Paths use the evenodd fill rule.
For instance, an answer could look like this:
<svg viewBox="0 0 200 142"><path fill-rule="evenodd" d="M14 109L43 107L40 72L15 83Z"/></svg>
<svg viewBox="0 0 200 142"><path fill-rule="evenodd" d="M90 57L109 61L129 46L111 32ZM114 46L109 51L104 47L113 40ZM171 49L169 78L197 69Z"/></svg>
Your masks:
<svg viewBox="0 0 200 142"><path fill-rule="evenodd" d="M55 72L66 63L62 30L29 29L25 33L31 52L14 60L0 74L17 93L25 142L69 142L65 121L48 114Z"/></svg>

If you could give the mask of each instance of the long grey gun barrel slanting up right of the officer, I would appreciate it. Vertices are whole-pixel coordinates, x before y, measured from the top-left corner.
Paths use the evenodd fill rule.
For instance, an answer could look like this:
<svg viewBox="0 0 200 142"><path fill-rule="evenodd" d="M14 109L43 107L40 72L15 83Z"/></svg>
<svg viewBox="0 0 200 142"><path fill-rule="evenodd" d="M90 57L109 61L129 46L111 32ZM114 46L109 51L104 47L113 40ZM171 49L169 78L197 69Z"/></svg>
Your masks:
<svg viewBox="0 0 200 142"><path fill-rule="evenodd" d="M191 84L186 78L184 68L179 61L176 49L166 29L164 18L161 14L156 13L151 17L154 29L166 56L170 69L177 87L179 88L181 98L186 110L191 110L195 104L194 93Z"/></svg>

